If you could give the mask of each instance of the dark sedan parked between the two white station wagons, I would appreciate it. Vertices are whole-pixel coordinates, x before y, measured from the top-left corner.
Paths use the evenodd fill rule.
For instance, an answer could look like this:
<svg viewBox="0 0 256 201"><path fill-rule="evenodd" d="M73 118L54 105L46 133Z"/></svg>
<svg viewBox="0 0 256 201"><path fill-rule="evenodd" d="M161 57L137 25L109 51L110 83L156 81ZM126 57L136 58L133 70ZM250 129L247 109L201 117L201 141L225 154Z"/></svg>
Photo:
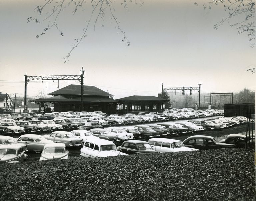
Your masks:
<svg viewBox="0 0 256 201"><path fill-rule="evenodd" d="M126 154L159 153L158 151L153 150L148 142L141 140L124 141L121 146L117 147L117 150Z"/></svg>

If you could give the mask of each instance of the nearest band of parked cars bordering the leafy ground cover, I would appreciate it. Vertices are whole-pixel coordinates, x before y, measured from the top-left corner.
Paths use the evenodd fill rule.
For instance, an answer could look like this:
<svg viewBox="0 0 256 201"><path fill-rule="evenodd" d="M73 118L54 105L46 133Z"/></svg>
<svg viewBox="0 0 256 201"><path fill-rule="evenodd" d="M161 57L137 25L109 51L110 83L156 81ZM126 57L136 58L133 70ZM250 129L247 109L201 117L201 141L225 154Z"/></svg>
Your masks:
<svg viewBox="0 0 256 201"><path fill-rule="evenodd" d="M80 134L80 138L77 133ZM81 135L83 133L83 135ZM83 140L85 138L85 140ZM54 143L55 142L55 143ZM79 147L80 155L85 158L99 158L130 154L166 153L180 151L199 151L204 149L222 149L244 147L245 143L255 146L255 135L246 137L241 134L230 134L217 142L214 137L205 135L190 136L184 141L166 138L150 138L148 141L126 140L116 145L105 139L94 136L89 131L57 131L51 135L40 136L26 134L15 140L9 136L0 136L0 163L26 161L26 151L41 153L40 160L68 159L66 147Z"/></svg>

